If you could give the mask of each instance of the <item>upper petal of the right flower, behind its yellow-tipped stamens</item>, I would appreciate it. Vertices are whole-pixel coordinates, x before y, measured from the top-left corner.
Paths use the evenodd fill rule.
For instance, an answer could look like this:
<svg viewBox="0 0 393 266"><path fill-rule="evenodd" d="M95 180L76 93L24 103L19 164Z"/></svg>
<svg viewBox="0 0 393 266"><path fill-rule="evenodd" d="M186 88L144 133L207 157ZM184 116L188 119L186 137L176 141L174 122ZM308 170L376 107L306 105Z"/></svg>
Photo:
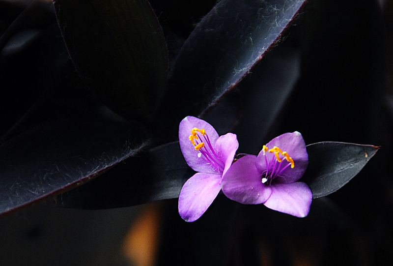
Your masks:
<svg viewBox="0 0 393 266"><path fill-rule="evenodd" d="M309 164L309 154L307 153L306 144L303 140L302 134L295 131L293 133L282 134L273 140L271 140L266 146L271 149L274 146L281 148L282 151L286 151L289 156L295 162L295 167L287 167L280 175L275 178L275 182L281 183L293 183L303 177L306 172L307 165ZM263 155L263 151L259 152L256 160L256 168L260 173L266 170L266 160L270 163L272 158L275 156L274 153L266 152ZM282 163L287 164L286 160Z"/></svg>

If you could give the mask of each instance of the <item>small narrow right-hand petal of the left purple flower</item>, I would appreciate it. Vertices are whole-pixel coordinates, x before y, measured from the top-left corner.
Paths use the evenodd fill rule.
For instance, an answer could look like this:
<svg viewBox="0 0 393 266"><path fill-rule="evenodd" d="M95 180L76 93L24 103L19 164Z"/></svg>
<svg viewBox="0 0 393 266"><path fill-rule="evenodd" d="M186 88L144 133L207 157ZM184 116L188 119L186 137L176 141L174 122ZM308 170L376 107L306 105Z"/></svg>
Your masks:
<svg viewBox="0 0 393 266"><path fill-rule="evenodd" d="M228 171L229 167L232 165L233 158L237 148L239 148L239 143L237 141L236 135L232 133L227 133L218 138L216 147L218 156L223 160L225 164L225 169L223 175Z"/></svg>

